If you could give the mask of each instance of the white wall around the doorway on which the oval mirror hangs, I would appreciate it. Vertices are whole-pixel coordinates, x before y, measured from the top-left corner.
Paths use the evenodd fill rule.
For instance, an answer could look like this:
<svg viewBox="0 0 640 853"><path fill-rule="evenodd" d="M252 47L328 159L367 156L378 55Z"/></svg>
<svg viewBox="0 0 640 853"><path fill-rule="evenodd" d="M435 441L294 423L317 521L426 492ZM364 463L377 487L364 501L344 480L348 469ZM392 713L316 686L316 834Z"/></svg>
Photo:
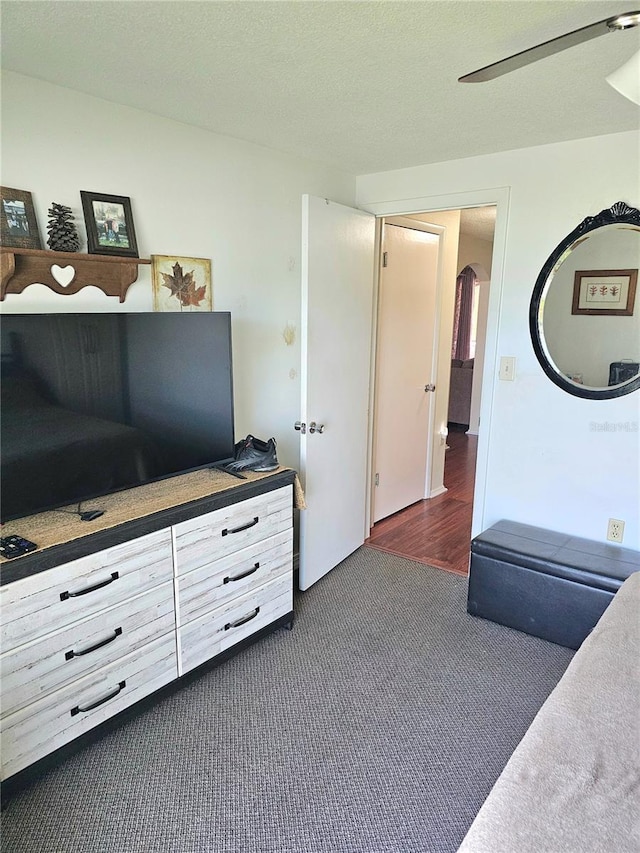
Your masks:
<svg viewBox="0 0 640 853"><path fill-rule="evenodd" d="M516 357L517 378L501 382L494 373L483 389L482 424L490 407L484 527L506 518L604 540L613 517L626 521L624 545L640 548L640 392L591 401L560 390L538 364L528 327L533 285L560 240L618 200L639 206L639 136L611 134L358 178L359 206L395 214L403 200L411 212L416 199L436 197L441 206L447 196L453 207L456 194L490 197L495 188L510 188L504 256L498 270L494 254L491 288L497 355Z"/></svg>

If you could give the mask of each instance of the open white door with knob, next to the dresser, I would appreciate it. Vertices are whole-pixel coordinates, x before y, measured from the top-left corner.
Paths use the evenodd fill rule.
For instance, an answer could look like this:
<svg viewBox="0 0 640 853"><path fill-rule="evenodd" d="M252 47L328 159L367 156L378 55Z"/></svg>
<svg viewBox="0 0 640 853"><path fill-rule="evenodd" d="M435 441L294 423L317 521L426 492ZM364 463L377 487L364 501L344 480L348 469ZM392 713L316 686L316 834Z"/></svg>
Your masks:
<svg viewBox="0 0 640 853"><path fill-rule="evenodd" d="M302 202L300 589L368 535L369 384L375 217ZM320 425L319 427L316 425Z"/></svg>

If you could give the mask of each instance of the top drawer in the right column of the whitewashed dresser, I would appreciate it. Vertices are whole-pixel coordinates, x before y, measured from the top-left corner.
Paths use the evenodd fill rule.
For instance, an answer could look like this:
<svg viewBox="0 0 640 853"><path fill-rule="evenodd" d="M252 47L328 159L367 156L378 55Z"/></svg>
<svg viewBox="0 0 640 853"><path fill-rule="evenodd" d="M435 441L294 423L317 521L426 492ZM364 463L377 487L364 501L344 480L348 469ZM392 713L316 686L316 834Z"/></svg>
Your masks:
<svg viewBox="0 0 640 853"><path fill-rule="evenodd" d="M292 486L217 509L177 524L176 573L190 572L247 548L293 524Z"/></svg>

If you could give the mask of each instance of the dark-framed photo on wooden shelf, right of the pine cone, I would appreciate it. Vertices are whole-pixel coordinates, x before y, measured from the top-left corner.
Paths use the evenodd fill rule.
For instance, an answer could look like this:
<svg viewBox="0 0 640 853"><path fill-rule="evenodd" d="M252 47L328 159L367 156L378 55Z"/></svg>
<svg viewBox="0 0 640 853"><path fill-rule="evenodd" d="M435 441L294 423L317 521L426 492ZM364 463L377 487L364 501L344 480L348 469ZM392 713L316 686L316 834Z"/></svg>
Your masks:
<svg viewBox="0 0 640 853"><path fill-rule="evenodd" d="M90 255L138 257L131 199L80 191Z"/></svg>

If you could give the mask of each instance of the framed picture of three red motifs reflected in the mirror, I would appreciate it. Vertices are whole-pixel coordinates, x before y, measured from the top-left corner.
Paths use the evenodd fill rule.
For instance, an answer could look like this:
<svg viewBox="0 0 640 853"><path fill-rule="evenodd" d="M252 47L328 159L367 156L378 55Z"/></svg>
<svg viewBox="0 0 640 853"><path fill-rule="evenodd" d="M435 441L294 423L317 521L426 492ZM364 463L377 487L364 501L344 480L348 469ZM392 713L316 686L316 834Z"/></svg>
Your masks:
<svg viewBox="0 0 640 853"><path fill-rule="evenodd" d="M638 270L577 270L572 314L633 316Z"/></svg>

